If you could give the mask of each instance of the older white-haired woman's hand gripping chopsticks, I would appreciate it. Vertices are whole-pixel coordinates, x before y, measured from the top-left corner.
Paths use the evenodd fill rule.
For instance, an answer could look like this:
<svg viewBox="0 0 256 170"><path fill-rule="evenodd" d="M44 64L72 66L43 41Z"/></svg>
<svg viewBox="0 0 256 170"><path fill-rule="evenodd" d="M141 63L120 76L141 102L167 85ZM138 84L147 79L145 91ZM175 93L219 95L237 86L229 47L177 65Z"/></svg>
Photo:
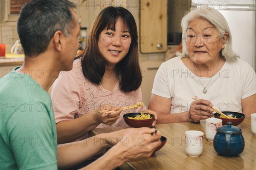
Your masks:
<svg viewBox="0 0 256 170"><path fill-rule="evenodd" d="M212 103L208 100L199 99L191 103L188 113L188 122L199 122L202 119L214 116Z"/></svg>

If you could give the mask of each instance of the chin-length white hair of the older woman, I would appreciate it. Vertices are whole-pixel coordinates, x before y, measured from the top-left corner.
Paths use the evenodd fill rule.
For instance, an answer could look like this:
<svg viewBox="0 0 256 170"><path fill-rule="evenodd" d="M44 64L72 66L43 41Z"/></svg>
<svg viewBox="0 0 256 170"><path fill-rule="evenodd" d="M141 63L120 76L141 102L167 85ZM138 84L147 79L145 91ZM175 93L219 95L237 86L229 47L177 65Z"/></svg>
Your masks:
<svg viewBox="0 0 256 170"><path fill-rule="evenodd" d="M239 56L236 55L232 50L232 36L231 36L230 28L224 16L214 8L213 9L197 8L195 10L188 12L182 18L181 28L182 28L182 44L183 44L182 51L183 52L182 54L178 53L177 55L181 57L189 57L187 46L185 45L186 31L189 26L189 23L196 18L209 21L212 24L212 26L214 26L218 30L221 37L223 37L225 33L229 34L227 41L225 42L225 48L221 49L220 53L227 61L235 61Z"/></svg>

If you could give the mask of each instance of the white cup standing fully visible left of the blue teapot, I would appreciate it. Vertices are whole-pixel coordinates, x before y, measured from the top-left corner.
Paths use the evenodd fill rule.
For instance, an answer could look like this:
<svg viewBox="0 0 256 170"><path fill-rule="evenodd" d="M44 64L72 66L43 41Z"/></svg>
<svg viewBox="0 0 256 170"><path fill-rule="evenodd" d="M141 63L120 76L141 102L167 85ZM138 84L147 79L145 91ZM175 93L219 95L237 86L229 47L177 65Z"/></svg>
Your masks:
<svg viewBox="0 0 256 170"><path fill-rule="evenodd" d="M203 152L204 132L189 130L186 135L186 153L191 157L198 157Z"/></svg>

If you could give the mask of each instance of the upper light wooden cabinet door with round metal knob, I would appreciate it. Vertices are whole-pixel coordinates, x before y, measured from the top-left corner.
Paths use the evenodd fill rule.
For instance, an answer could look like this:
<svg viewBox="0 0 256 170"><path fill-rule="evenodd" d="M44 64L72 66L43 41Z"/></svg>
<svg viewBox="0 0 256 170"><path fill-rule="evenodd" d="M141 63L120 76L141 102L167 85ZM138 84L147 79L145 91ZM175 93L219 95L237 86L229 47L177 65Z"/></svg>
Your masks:
<svg viewBox="0 0 256 170"><path fill-rule="evenodd" d="M140 52L167 50L167 0L140 0Z"/></svg>

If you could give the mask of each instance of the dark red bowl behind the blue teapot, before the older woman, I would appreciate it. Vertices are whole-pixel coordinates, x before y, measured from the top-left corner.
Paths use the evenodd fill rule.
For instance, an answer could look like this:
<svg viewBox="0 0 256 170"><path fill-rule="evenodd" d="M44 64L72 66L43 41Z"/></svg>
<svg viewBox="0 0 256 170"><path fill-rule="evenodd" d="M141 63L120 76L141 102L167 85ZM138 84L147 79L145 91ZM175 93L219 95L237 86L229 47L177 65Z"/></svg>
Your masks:
<svg viewBox="0 0 256 170"><path fill-rule="evenodd" d="M227 118L220 118L220 114L219 113L214 113L214 117L221 119L222 120L222 125L227 125L227 122L232 122L233 126L237 126L239 125L241 122L244 121L245 115L243 113L238 113L238 112L230 112L230 111L223 111L222 113L224 113L227 116L232 116L232 117L237 117L238 119L227 119Z"/></svg>

